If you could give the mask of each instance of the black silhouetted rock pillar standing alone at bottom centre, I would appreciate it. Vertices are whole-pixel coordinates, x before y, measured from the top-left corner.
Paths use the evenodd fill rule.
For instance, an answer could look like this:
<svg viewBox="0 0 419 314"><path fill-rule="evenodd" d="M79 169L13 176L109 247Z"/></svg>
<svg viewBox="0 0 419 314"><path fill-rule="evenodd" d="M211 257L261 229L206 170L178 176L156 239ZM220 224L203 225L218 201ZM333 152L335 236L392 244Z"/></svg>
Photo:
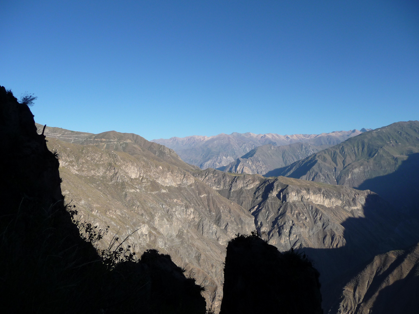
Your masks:
<svg viewBox="0 0 419 314"><path fill-rule="evenodd" d="M220 314L323 313L318 277L305 255L239 235L227 247Z"/></svg>

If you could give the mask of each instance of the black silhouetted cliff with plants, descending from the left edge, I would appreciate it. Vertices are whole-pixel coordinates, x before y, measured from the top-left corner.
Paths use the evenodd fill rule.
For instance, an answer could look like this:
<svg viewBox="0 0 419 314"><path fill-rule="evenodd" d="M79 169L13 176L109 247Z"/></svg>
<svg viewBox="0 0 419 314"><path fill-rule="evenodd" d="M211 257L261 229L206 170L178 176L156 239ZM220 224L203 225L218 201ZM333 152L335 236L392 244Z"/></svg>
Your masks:
<svg viewBox="0 0 419 314"><path fill-rule="evenodd" d="M28 106L1 87L0 110L4 313L206 312L203 287L169 255L148 250L134 261L118 245L103 255L92 245L101 232L85 225L80 237L74 208L63 202L57 153L36 133Z"/></svg>

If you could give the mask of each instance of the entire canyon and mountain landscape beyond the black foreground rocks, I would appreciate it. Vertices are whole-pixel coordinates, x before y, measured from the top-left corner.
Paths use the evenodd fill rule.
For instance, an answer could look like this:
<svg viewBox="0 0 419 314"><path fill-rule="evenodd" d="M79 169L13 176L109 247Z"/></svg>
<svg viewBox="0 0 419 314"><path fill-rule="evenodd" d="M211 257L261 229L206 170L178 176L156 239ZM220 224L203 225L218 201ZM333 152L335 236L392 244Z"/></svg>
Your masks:
<svg viewBox="0 0 419 314"><path fill-rule="evenodd" d="M41 133L43 126L37 127ZM222 299L225 246L252 230L280 251L299 249L314 260L325 313L367 313L397 301L374 304L389 281L411 274L409 284L417 283L417 262L403 258L416 256L417 249L407 247L419 240L412 175L418 171L418 121L372 131L153 142L115 131L47 127L45 134L49 149L60 154L63 194L80 216L121 236L138 229L129 244L170 254L208 287L207 304L215 309ZM401 249L407 255L392 253ZM381 266L369 265L373 259L390 267L386 254L396 254L395 263L408 263L412 271L375 278L372 272ZM354 281L383 276L390 276L384 285ZM347 292L362 285L364 292Z"/></svg>

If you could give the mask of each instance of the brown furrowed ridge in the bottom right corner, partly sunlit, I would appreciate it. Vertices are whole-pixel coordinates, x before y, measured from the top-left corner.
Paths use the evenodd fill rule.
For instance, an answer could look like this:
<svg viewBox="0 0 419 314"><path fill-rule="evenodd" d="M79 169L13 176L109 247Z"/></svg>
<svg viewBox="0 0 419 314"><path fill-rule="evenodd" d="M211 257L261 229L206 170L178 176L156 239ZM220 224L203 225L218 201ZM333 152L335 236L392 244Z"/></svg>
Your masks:
<svg viewBox="0 0 419 314"><path fill-rule="evenodd" d="M417 313L419 244L375 256L338 292L331 313Z"/></svg>

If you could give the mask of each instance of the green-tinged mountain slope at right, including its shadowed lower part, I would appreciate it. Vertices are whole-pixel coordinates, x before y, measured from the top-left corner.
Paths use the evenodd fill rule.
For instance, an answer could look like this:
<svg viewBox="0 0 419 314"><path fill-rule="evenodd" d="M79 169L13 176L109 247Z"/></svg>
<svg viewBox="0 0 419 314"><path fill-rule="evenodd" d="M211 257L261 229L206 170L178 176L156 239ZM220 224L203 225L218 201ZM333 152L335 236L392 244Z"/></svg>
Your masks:
<svg viewBox="0 0 419 314"><path fill-rule="evenodd" d="M370 189L388 201L409 207L414 205L409 200L418 192L418 153L419 121L397 122L266 175Z"/></svg>

